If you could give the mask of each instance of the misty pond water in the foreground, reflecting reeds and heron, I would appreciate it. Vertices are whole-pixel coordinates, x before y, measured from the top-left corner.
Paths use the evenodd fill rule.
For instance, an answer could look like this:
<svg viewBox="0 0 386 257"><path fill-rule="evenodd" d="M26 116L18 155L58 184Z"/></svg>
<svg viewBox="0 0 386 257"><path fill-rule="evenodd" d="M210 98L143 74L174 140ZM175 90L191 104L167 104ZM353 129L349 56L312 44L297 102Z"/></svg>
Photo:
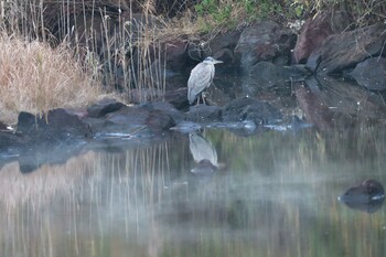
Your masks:
<svg viewBox="0 0 386 257"><path fill-rule="evenodd" d="M9 163L0 256L385 256L386 208L337 201L386 181L385 131L206 129L28 174Z"/></svg>

